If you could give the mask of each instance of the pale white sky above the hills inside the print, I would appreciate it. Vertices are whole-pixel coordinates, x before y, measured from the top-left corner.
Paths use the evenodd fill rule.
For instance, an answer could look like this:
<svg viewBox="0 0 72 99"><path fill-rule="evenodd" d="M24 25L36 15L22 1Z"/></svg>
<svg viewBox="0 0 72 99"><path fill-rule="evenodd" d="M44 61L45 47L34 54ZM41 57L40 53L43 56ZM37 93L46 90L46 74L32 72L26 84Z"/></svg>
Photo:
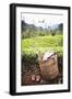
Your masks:
<svg viewBox="0 0 72 99"><path fill-rule="evenodd" d="M63 23L63 16L61 14L33 14L33 13L22 13L22 20L28 24L34 24L36 26L51 26L53 24Z"/></svg>

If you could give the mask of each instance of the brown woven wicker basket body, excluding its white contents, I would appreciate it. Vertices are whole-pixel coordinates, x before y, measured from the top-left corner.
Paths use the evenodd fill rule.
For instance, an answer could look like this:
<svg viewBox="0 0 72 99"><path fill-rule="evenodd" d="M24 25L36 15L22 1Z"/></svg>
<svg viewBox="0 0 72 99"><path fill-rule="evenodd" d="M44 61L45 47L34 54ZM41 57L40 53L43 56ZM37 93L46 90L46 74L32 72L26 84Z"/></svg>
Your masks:
<svg viewBox="0 0 72 99"><path fill-rule="evenodd" d="M45 80L55 79L59 75L57 54L52 54L46 61L39 61L39 68Z"/></svg>

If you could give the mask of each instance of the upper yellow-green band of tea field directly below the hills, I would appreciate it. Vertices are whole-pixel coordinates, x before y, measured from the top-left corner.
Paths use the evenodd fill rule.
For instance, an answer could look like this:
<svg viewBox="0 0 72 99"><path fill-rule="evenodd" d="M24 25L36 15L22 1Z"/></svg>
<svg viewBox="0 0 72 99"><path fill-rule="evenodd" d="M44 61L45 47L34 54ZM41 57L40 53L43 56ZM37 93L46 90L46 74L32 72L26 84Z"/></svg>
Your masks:
<svg viewBox="0 0 72 99"><path fill-rule="evenodd" d="M22 40L22 51L24 48L57 47L62 46L62 35L37 36Z"/></svg>

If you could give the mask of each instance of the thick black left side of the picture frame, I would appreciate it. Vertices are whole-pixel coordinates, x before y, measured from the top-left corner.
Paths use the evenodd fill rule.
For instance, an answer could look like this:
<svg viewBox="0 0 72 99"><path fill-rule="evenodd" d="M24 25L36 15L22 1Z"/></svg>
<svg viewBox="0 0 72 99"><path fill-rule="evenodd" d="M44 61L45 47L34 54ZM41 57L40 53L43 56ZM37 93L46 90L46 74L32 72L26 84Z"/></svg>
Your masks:
<svg viewBox="0 0 72 99"><path fill-rule="evenodd" d="M15 95L15 7L10 4L10 95Z"/></svg>

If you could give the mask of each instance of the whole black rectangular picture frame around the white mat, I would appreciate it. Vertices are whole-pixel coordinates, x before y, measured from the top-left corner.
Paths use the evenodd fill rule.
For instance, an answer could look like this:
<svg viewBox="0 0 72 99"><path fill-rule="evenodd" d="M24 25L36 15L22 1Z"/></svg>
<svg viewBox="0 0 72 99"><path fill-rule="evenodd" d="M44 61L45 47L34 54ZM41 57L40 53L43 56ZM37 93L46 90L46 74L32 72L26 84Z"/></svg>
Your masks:
<svg viewBox="0 0 72 99"><path fill-rule="evenodd" d="M38 91L16 91L16 8L38 8L38 9L58 9L68 11L68 89L58 90L38 90ZM10 95L35 95L35 94L53 94L70 91L70 7L41 6L41 4L10 4Z"/></svg>

